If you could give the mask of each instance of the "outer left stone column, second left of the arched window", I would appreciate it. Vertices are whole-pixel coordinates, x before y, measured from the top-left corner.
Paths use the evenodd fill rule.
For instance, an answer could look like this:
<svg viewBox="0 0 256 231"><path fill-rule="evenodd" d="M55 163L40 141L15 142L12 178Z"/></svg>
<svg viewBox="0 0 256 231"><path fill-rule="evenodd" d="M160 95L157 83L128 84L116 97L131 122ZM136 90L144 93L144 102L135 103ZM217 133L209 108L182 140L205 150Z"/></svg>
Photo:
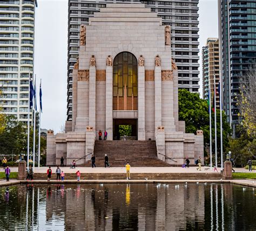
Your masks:
<svg viewBox="0 0 256 231"><path fill-rule="evenodd" d="M96 67L91 66L89 72L89 125L96 129Z"/></svg>

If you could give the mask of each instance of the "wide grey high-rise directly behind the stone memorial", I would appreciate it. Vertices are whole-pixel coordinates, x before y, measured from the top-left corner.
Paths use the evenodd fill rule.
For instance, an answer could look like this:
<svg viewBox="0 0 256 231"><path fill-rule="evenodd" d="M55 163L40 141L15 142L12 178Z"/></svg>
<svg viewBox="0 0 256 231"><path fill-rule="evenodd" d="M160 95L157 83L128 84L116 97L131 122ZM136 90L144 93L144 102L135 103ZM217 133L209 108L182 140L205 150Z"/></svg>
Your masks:
<svg viewBox="0 0 256 231"><path fill-rule="evenodd" d="M93 17L93 13L98 12L99 8L105 8L107 3L144 3L151 11L157 12L163 19L163 25L171 26L172 55L179 69L179 88L198 92L198 2L199 0L69 0L67 120L72 120L72 69L78 57L80 25L87 25L89 17Z"/></svg>

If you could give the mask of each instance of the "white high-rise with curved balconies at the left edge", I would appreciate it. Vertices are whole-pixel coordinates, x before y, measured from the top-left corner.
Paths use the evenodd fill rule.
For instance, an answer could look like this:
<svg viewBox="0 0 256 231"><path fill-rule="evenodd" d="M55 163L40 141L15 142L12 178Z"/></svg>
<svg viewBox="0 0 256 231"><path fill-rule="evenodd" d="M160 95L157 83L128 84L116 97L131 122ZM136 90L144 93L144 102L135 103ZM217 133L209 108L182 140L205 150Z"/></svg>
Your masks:
<svg viewBox="0 0 256 231"><path fill-rule="evenodd" d="M36 0L0 1L0 106L24 123L29 114L36 6Z"/></svg>

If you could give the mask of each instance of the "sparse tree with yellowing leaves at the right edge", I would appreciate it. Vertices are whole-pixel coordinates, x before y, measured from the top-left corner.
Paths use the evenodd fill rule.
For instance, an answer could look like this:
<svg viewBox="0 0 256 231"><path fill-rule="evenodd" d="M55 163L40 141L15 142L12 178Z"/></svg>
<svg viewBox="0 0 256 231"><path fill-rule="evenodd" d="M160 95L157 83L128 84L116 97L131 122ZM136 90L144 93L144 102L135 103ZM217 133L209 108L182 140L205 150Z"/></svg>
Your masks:
<svg viewBox="0 0 256 231"><path fill-rule="evenodd" d="M237 97L241 125L249 137L256 137L256 65L240 81L240 95Z"/></svg>

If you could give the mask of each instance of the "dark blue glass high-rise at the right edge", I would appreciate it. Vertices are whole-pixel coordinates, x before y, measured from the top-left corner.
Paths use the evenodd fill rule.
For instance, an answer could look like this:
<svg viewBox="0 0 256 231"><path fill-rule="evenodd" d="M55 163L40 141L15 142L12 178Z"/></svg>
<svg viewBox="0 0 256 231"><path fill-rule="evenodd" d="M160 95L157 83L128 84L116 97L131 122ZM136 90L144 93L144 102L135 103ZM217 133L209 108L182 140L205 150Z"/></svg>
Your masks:
<svg viewBox="0 0 256 231"><path fill-rule="evenodd" d="M224 109L234 125L239 81L256 59L256 0L219 0L219 41Z"/></svg>

